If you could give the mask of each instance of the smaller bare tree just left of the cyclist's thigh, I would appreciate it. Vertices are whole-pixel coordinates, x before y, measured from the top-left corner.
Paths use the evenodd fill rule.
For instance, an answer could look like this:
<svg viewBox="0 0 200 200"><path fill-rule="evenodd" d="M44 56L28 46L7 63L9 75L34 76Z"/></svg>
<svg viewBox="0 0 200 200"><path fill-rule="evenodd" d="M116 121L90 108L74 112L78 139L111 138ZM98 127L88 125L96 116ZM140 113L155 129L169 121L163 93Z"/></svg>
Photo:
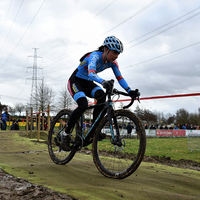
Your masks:
<svg viewBox="0 0 200 200"><path fill-rule="evenodd" d="M65 85L65 87L62 88L60 95L59 95L58 107L59 107L59 109L70 108L73 106L73 104L74 104L74 100L71 97L71 95L69 94L67 87Z"/></svg>

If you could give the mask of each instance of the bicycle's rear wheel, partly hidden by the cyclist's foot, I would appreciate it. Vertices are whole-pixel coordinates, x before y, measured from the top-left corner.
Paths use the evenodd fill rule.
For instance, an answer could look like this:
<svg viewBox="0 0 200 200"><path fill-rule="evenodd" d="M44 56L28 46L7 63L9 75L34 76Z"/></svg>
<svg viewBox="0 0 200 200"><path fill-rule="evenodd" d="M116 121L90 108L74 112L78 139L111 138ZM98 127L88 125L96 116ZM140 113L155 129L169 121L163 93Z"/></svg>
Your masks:
<svg viewBox="0 0 200 200"><path fill-rule="evenodd" d="M65 131L65 126L69 120L71 111L67 109L61 110L51 121L51 126L48 136L48 150L49 155L54 163L64 165L68 163L75 155L76 150L72 148L71 151L63 151L60 147L60 134ZM73 130L71 134L70 143L73 144L76 138L76 131Z"/></svg>

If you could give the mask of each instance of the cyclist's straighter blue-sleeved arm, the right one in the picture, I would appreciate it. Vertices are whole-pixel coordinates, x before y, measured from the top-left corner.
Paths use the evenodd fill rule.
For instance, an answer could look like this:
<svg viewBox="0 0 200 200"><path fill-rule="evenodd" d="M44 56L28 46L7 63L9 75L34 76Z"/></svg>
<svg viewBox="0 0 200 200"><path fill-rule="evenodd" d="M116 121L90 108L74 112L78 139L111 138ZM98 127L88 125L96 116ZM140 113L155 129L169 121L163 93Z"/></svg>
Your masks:
<svg viewBox="0 0 200 200"><path fill-rule="evenodd" d="M118 63L117 61L114 61L113 62L113 67L112 67L112 70L115 74L115 77L117 78L120 86L122 88L124 88L124 90L126 90L127 92L129 92L131 90L131 88L129 87L128 83L126 82L126 80L122 77L122 74L121 72L119 71L119 66L118 66Z"/></svg>

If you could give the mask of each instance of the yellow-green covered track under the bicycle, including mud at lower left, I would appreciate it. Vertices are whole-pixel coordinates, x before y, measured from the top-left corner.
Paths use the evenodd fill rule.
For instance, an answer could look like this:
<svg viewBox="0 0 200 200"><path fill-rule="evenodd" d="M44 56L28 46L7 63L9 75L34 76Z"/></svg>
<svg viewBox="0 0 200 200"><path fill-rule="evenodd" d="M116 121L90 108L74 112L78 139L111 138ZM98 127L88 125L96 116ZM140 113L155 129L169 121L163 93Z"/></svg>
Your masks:
<svg viewBox="0 0 200 200"><path fill-rule="evenodd" d="M59 166L50 160L46 145L0 132L0 166L8 173L0 170L0 199L200 199L199 168L146 159L154 163L143 162L127 179L113 180L98 172L90 152Z"/></svg>

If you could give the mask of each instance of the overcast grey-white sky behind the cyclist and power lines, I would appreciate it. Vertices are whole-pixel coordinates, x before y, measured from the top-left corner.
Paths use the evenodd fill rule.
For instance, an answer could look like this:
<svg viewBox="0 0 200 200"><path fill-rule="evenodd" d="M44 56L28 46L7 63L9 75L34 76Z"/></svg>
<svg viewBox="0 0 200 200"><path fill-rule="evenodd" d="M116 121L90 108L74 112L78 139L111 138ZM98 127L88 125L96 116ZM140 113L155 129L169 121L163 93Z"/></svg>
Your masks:
<svg viewBox="0 0 200 200"><path fill-rule="evenodd" d="M80 57L111 35L124 44L119 68L141 98L199 93L199 33L199 0L1 0L0 102L30 102L34 64L37 82L59 97ZM98 75L115 79L111 69ZM141 100L132 109L195 113L199 100Z"/></svg>

